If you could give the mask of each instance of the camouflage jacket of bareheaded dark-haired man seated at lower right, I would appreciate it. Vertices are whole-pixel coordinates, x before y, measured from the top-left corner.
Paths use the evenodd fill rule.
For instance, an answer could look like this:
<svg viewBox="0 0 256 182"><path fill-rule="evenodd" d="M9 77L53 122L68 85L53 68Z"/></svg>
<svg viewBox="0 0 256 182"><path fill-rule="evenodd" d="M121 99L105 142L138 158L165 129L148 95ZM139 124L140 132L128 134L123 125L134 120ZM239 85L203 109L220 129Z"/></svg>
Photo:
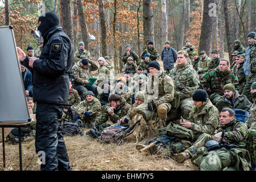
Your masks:
<svg viewBox="0 0 256 182"><path fill-rule="evenodd" d="M223 142L243 148L246 146L246 131L246 124L234 119L229 124L221 126L217 132L224 132Z"/></svg>

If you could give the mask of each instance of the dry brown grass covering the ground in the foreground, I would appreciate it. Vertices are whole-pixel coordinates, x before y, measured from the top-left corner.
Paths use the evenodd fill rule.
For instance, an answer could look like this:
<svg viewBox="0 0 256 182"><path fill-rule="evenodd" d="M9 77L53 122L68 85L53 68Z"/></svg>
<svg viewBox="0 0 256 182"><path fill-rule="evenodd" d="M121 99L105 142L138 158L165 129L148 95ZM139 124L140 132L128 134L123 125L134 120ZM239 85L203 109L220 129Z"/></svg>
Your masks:
<svg viewBox="0 0 256 182"><path fill-rule="evenodd" d="M87 129L88 130L88 129ZM5 136L10 129L5 129ZM95 139L88 138L87 135L64 138L70 164L75 171L129 171L129 170L147 170L147 171L191 171L198 170L190 160L183 164L178 164L173 159L165 159L162 156L140 154L135 149L135 143L124 143L121 146L117 144L104 144ZM140 143L144 143L143 142ZM19 147L9 142L5 143L6 150L6 168L3 168L2 162L2 142L0 155L0 170L19 170ZM22 164L23 170L40 170L35 154L34 140L22 143Z"/></svg>

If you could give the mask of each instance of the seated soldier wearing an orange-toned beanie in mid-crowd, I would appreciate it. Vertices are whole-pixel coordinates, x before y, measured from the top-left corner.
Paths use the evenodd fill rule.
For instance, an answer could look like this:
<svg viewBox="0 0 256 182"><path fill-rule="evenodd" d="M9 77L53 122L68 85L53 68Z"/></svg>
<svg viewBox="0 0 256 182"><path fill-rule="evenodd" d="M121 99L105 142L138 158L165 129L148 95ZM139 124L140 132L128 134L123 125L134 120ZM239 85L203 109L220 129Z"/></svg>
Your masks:
<svg viewBox="0 0 256 182"><path fill-rule="evenodd" d="M124 77L120 77L116 83L115 94L118 94L121 98L123 98L128 104L132 105L132 96L133 90L125 85L126 80Z"/></svg>

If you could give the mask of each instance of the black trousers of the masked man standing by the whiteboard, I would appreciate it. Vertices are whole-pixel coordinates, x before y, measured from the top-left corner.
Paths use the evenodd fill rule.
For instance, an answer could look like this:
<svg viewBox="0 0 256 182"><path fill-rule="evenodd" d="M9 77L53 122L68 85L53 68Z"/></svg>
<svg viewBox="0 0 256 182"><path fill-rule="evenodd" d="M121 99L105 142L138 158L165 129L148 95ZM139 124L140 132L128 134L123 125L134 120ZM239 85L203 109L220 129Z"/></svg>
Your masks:
<svg viewBox="0 0 256 182"><path fill-rule="evenodd" d="M63 108L41 102L36 105L35 150L41 159L45 156L41 171L71 170L60 126Z"/></svg>

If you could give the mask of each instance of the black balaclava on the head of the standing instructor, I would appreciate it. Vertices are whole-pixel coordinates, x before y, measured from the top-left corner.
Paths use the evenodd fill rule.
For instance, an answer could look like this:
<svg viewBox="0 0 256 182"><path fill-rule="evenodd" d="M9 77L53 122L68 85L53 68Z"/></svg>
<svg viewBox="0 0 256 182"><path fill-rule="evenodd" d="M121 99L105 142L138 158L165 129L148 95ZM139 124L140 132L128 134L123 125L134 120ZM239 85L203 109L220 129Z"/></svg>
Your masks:
<svg viewBox="0 0 256 182"><path fill-rule="evenodd" d="M55 13L46 12L45 14L43 13L41 16L39 16L38 22L41 22L41 24L38 26L38 30L44 37L48 30L59 24L59 18Z"/></svg>

